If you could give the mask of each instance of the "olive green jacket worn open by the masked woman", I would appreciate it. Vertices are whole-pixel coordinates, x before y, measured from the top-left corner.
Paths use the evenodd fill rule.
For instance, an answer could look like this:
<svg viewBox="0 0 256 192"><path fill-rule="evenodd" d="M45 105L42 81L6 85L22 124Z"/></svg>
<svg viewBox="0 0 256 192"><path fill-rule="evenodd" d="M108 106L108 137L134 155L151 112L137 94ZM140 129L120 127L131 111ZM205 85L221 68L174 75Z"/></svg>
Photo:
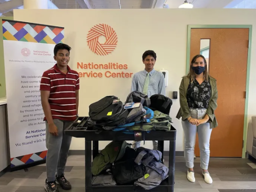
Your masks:
<svg viewBox="0 0 256 192"><path fill-rule="evenodd" d="M206 113L209 116L208 122L210 123L210 128L216 128L218 126L214 111L217 108L217 99L218 99L218 90L216 79L209 76L210 84L212 87L212 94L209 100L209 106L207 108ZM182 117L182 120L188 119L190 117L190 111L187 103L187 90L190 79L188 76L184 76L180 83L180 110L176 116L177 119Z"/></svg>

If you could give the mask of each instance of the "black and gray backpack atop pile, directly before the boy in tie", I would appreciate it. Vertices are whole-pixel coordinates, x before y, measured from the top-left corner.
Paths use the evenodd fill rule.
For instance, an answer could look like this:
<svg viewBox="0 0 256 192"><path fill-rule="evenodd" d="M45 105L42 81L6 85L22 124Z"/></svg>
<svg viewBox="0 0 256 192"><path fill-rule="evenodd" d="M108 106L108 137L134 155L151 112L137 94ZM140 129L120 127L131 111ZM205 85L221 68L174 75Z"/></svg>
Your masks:
<svg viewBox="0 0 256 192"><path fill-rule="evenodd" d="M143 106L149 107L150 106L150 99L147 95L143 94L139 91L131 92L126 99L125 103L141 103Z"/></svg>

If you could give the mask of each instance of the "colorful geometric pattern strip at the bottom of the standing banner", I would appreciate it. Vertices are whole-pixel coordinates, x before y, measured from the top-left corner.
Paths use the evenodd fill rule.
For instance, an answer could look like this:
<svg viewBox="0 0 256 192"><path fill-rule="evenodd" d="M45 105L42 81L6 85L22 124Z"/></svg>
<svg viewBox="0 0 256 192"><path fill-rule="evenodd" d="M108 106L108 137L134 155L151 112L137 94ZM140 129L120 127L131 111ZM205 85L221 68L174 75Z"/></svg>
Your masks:
<svg viewBox="0 0 256 192"><path fill-rule="evenodd" d="M47 151L32 153L24 156L11 158L11 168L19 165L30 164L36 161L45 160Z"/></svg>

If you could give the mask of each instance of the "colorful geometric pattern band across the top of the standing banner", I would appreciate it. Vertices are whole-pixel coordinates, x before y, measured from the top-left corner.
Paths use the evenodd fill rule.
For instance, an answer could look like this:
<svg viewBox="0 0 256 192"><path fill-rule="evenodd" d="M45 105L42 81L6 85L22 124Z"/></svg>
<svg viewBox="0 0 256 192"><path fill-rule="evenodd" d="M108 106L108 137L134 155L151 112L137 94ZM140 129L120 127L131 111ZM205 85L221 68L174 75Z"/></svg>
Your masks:
<svg viewBox="0 0 256 192"><path fill-rule="evenodd" d="M4 40L25 41L44 44L62 43L64 28L48 27L17 21L3 20Z"/></svg>

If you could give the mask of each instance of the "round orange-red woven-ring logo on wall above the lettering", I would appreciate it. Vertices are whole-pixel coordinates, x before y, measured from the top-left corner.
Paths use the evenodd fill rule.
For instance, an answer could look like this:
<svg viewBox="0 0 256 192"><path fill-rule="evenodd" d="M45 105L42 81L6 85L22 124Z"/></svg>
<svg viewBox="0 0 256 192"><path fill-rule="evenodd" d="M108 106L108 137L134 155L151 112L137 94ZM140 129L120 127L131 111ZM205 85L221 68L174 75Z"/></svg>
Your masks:
<svg viewBox="0 0 256 192"><path fill-rule="evenodd" d="M104 43L99 42L104 38ZM87 35L87 43L92 52L104 56L112 53L117 45L117 35L112 27L107 24L93 26Z"/></svg>

